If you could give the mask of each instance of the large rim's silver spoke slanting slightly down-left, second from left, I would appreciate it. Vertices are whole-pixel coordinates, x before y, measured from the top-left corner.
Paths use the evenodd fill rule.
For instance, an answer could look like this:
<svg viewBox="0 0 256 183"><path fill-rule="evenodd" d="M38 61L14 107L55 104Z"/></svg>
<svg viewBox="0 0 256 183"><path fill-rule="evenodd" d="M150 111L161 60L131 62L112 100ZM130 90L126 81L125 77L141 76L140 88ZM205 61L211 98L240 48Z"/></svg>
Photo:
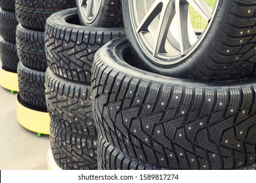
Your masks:
<svg viewBox="0 0 256 183"><path fill-rule="evenodd" d="M165 42L169 27L175 15L174 1L165 1L161 10L160 21L158 24L158 31L156 33L156 44L154 45L154 56L160 53L167 53L165 50Z"/></svg>

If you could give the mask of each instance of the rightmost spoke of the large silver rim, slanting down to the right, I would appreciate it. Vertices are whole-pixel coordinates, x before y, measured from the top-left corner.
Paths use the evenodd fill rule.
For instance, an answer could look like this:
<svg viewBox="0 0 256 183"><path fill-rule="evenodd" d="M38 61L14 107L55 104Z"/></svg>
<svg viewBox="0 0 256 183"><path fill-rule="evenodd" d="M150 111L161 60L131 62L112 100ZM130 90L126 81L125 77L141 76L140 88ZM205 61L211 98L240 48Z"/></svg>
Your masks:
<svg viewBox="0 0 256 183"><path fill-rule="evenodd" d="M186 0L207 22L211 20L213 10L203 0Z"/></svg>

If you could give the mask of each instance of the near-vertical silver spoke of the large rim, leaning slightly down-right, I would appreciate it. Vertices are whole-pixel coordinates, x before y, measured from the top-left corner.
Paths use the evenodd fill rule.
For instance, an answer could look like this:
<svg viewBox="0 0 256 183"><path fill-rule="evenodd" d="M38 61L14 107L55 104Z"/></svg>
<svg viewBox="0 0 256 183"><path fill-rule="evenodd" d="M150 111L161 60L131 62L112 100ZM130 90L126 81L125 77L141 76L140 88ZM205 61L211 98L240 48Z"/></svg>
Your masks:
<svg viewBox="0 0 256 183"><path fill-rule="evenodd" d="M177 28L179 33L181 56L184 56L186 54L186 50L191 46L188 37L188 3L176 0L175 10L177 15Z"/></svg>

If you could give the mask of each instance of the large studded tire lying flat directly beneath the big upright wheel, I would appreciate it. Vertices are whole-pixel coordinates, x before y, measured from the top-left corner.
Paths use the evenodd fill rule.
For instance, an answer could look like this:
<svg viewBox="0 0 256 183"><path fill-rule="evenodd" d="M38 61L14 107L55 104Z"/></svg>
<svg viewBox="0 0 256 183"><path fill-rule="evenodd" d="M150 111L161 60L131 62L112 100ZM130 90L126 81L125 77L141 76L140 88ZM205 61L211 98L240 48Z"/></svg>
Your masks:
<svg viewBox="0 0 256 183"><path fill-rule="evenodd" d="M95 55L93 113L110 144L168 169L239 169L256 161L256 83L206 83L142 71L126 39Z"/></svg>

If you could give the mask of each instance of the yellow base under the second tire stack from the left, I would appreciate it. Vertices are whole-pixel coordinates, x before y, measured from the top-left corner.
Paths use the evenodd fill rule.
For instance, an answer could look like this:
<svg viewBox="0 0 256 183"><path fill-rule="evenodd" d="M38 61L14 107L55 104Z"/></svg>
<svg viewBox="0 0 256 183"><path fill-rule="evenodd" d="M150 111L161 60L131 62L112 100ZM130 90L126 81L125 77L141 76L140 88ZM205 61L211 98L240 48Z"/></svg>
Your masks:
<svg viewBox="0 0 256 183"><path fill-rule="evenodd" d="M41 112L25 107L18 100L18 95L16 98L16 109L17 119L20 125L37 133L38 136L41 136L41 134L50 134L51 118L48 112Z"/></svg>

